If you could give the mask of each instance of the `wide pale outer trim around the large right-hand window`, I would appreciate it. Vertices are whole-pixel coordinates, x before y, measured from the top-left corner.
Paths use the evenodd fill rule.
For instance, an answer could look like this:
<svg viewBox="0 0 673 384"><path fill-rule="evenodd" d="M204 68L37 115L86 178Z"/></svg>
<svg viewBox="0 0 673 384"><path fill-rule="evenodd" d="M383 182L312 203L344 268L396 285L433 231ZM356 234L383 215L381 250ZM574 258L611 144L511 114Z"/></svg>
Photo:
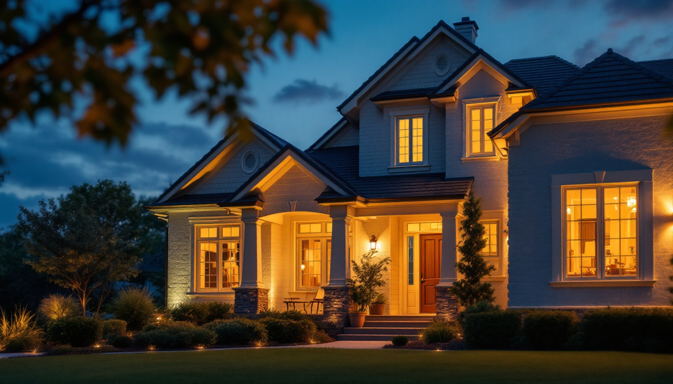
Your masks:
<svg viewBox="0 0 673 384"><path fill-rule="evenodd" d="M652 169L552 175L551 179L551 286L643 286L654 284L656 280L654 280ZM637 255L639 255L639 272L637 278L610 278L587 281L565 278L563 276L563 264L565 263L565 255L563 254L563 188L569 186L609 186L609 184L629 183L637 183L638 188Z"/></svg>

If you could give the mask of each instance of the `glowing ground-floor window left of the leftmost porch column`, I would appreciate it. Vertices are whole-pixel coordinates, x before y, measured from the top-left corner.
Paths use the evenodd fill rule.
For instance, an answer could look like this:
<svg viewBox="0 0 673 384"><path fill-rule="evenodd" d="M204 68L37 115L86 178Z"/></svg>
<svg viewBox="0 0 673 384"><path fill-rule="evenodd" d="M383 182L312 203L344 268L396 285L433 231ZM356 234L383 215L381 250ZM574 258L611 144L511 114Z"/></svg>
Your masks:
<svg viewBox="0 0 673 384"><path fill-rule="evenodd" d="M197 290L229 291L240 279L240 226L197 227Z"/></svg>

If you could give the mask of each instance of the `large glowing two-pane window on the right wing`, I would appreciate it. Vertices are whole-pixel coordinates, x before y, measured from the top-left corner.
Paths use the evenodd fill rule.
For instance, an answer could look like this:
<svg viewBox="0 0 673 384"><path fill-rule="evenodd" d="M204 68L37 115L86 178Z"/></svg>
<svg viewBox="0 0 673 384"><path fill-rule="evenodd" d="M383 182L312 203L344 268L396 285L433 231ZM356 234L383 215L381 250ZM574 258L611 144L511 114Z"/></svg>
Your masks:
<svg viewBox="0 0 673 384"><path fill-rule="evenodd" d="M567 278L637 276L637 190L637 185L564 189Z"/></svg>

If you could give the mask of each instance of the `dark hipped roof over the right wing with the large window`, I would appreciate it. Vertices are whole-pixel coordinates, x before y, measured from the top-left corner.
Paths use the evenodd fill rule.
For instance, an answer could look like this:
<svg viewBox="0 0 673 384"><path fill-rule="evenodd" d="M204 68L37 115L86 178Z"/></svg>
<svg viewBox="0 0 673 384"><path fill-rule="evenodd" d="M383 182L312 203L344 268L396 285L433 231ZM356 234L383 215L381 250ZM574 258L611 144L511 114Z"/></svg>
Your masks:
<svg viewBox="0 0 673 384"><path fill-rule="evenodd" d="M608 49L521 112L673 98L673 79Z"/></svg>

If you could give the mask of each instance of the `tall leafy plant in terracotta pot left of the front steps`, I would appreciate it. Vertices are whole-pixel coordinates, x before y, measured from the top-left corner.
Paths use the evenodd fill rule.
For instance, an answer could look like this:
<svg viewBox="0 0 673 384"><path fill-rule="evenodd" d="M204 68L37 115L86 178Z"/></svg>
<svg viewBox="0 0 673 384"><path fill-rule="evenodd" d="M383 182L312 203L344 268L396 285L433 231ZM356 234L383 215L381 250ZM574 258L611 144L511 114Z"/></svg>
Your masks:
<svg viewBox="0 0 673 384"><path fill-rule="evenodd" d="M346 280L349 287L351 301L357 306L355 311L349 312L351 327L362 328L365 325L367 308L374 303L378 289L386 285L383 272L388 271L390 258L375 258L376 250L362 255L360 264L351 260L353 277Z"/></svg>

